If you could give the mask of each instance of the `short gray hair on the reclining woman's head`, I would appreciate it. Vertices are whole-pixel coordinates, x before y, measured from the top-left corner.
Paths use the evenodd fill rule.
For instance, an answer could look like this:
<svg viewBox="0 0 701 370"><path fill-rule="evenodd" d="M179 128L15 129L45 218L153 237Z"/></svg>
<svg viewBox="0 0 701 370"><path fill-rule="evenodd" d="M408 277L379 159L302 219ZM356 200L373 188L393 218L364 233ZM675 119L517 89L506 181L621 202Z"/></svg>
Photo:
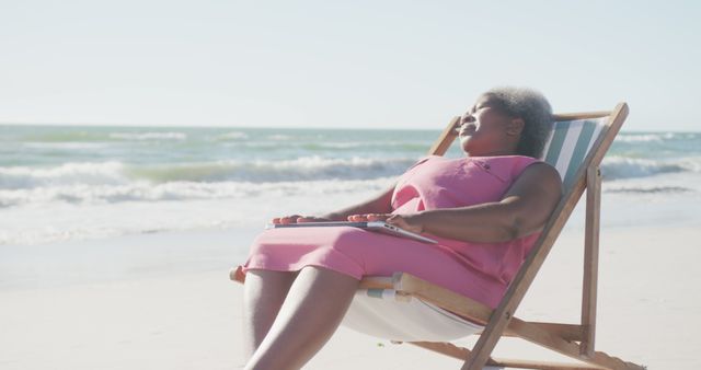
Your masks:
<svg viewBox="0 0 701 370"><path fill-rule="evenodd" d="M552 108L543 94L525 88L495 88L484 93L497 108L524 119L524 130L516 148L520 155L540 158L552 129Z"/></svg>

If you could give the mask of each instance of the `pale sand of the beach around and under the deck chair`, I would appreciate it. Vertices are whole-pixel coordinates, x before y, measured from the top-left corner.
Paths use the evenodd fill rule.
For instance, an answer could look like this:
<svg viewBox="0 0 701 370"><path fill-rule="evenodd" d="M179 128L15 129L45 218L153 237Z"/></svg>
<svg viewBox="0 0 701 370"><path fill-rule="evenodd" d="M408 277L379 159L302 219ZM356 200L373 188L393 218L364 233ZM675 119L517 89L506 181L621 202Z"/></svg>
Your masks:
<svg viewBox="0 0 701 370"><path fill-rule="evenodd" d="M650 369L699 369L699 226L605 228L597 349ZM234 369L252 230L0 245L0 369ZM577 323L582 232L565 230L516 315ZM472 344L474 339L461 340ZM505 338L496 357L560 360ZM306 369L458 369L341 327Z"/></svg>

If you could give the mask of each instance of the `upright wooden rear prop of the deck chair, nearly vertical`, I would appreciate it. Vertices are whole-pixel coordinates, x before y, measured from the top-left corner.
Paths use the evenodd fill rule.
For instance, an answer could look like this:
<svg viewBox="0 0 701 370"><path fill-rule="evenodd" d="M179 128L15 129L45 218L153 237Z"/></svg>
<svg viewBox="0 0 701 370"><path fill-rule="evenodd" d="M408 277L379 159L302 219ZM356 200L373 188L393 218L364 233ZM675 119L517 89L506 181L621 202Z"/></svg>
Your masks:
<svg viewBox="0 0 701 370"><path fill-rule="evenodd" d="M594 355L596 337L597 278L599 266L599 219L601 209L601 171L587 170L587 203L584 234L584 277L582 286L582 355Z"/></svg>

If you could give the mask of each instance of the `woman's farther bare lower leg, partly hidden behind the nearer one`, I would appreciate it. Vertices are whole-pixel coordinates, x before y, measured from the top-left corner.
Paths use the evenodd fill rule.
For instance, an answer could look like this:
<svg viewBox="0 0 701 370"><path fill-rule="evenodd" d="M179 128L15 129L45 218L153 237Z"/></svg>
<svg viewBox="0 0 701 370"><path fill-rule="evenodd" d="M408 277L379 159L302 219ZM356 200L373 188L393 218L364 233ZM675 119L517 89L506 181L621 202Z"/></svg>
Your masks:
<svg viewBox="0 0 701 370"><path fill-rule="evenodd" d="M243 286L243 356L253 356L271 329L297 273L249 270Z"/></svg>

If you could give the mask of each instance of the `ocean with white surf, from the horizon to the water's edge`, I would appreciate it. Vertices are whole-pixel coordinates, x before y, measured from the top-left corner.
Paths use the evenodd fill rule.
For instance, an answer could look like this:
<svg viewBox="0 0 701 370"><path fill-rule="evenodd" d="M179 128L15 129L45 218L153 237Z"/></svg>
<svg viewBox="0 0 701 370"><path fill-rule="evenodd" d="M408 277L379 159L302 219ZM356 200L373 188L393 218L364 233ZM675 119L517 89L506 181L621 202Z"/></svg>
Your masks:
<svg viewBox="0 0 701 370"><path fill-rule="evenodd" d="M262 228L276 216L323 213L390 186L438 135L0 126L0 244ZM457 143L447 153L460 155ZM701 218L701 132L623 131L601 171L604 223Z"/></svg>

